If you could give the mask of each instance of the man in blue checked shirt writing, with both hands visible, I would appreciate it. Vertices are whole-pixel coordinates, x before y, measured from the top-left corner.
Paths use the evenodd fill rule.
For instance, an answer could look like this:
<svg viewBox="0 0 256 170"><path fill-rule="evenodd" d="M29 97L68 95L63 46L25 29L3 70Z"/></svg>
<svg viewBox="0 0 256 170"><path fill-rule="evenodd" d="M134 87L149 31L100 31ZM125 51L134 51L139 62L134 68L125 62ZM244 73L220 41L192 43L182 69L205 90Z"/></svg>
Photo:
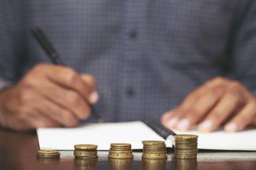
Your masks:
<svg viewBox="0 0 256 170"><path fill-rule="evenodd" d="M150 116L203 132L255 124L255 7L250 0L2 1L0 125L73 127L89 118L88 103L106 122ZM45 30L68 67L39 64L50 61L32 26Z"/></svg>

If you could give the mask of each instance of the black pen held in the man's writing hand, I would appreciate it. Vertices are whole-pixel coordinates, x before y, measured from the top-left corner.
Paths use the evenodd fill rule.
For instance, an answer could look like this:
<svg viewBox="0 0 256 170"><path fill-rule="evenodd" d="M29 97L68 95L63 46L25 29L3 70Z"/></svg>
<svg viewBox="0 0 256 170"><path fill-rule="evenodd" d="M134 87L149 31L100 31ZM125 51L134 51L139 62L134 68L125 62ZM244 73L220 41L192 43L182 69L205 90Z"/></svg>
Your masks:
<svg viewBox="0 0 256 170"><path fill-rule="evenodd" d="M39 27L33 27L31 28L31 33L34 38L38 41L38 43L43 47L43 50L45 50L46 54L50 58L50 60L57 65L65 66L63 60L60 59L60 56L58 55L58 52L55 50L53 45L50 43L50 40L46 37L46 34L43 33L43 30ZM103 120L100 117L99 113L97 113L97 110L90 104L90 109L92 111L92 115L95 115L95 118L97 118L98 123L102 123Z"/></svg>

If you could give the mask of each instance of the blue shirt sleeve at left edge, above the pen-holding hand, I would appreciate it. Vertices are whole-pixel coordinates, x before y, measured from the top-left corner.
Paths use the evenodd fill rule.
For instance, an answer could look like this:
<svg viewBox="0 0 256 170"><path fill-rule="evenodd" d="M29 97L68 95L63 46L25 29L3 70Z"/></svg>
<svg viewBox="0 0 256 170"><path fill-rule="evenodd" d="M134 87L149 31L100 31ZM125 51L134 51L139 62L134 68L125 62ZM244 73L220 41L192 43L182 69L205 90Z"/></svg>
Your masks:
<svg viewBox="0 0 256 170"><path fill-rule="evenodd" d="M21 2L3 0L0 3L0 89L18 81L22 63L23 16Z"/></svg>

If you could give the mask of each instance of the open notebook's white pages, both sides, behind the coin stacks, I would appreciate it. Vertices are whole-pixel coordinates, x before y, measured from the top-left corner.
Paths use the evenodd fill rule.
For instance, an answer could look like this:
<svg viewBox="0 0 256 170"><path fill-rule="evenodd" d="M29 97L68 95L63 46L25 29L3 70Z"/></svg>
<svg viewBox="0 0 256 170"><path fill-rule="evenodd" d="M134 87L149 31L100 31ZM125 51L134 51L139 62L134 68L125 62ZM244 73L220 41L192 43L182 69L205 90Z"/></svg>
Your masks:
<svg viewBox="0 0 256 170"><path fill-rule="evenodd" d="M256 129L228 133L216 131L201 133L196 130L178 132L198 135L199 149L254 150L256 151ZM110 149L110 143L125 142L132 149L142 149L142 140L164 140L141 121L127 123L90 123L78 128L38 128L40 149L73 150L77 144L98 145L99 150ZM171 141L166 141L171 147Z"/></svg>

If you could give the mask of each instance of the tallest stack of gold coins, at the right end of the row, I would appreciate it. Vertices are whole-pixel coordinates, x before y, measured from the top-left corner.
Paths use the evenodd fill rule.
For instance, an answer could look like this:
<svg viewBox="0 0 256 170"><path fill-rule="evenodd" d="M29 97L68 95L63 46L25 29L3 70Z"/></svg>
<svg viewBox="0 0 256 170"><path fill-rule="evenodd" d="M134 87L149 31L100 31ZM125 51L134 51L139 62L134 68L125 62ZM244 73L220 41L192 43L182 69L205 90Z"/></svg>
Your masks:
<svg viewBox="0 0 256 170"><path fill-rule="evenodd" d="M175 135L174 158L196 159L198 153L197 141L197 135Z"/></svg>

